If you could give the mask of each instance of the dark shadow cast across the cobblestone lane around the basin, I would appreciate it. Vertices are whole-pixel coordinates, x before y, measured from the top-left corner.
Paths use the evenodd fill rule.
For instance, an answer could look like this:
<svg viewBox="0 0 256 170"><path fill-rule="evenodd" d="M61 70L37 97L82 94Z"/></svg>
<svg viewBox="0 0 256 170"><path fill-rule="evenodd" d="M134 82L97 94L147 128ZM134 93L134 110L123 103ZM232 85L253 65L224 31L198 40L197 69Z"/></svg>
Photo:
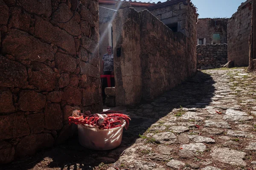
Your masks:
<svg viewBox="0 0 256 170"><path fill-rule="evenodd" d="M116 149L107 151L88 150L78 143L78 137L75 133L73 138L66 143L38 152L35 156L6 164L3 169L93 170L93 167L100 169L99 167L104 167L103 164L117 161L125 152L125 149L134 144L136 139L139 138L139 134L143 134L148 127L172 112L174 108L180 108L180 106L184 108L204 108L209 105L215 91L214 83L209 74L198 71L194 77L166 92L154 102L140 105L135 109L128 109L126 113L131 116L132 121L128 130L124 130L122 144Z"/></svg>

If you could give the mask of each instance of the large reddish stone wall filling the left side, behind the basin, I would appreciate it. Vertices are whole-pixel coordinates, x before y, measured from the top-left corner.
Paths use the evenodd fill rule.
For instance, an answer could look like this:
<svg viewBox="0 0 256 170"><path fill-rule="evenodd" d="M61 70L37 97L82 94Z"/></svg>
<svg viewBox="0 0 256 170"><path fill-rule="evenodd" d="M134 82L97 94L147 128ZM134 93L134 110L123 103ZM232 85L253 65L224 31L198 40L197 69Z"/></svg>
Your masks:
<svg viewBox="0 0 256 170"><path fill-rule="evenodd" d="M0 0L0 163L72 135L68 117L102 111L99 7L83 0Z"/></svg>

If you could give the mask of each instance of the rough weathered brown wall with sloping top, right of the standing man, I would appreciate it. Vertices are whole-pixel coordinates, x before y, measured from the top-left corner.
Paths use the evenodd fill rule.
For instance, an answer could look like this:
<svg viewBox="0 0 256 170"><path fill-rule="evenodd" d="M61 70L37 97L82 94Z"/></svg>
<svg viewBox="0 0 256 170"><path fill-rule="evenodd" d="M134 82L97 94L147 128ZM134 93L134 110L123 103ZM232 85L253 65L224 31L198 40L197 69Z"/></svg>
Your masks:
<svg viewBox="0 0 256 170"><path fill-rule="evenodd" d="M188 37L174 33L147 10L118 11L113 22L118 33L113 37L116 105L152 100L195 73L196 14L190 5L184 11Z"/></svg>

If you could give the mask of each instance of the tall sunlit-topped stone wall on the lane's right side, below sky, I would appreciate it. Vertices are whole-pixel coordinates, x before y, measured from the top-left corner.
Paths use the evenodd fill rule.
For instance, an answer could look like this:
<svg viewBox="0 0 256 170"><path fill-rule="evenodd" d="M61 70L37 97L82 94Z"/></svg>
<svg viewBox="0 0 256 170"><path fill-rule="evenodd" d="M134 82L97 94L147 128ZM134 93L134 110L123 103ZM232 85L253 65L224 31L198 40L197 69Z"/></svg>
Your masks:
<svg viewBox="0 0 256 170"><path fill-rule="evenodd" d="M247 66L249 63L251 2L247 0L239 6L227 24L228 61L233 61L235 66Z"/></svg>

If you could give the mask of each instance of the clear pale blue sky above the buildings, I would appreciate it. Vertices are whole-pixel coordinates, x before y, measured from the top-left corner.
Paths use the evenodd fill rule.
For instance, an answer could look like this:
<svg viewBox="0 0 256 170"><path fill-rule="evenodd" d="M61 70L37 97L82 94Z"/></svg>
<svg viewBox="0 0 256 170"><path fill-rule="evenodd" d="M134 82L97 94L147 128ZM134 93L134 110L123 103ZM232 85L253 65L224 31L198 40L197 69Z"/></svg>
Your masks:
<svg viewBox="0 0 256 170"><path fill-rule="evenodd" d="M145 0L139 1L144 2ZM165 2L166 0L151 0L150 2L157 3L159 1ZM192 0L192 3L198 8L199 18L230 18L237 11L241 3L245 1L246 0Z"/></svg>

